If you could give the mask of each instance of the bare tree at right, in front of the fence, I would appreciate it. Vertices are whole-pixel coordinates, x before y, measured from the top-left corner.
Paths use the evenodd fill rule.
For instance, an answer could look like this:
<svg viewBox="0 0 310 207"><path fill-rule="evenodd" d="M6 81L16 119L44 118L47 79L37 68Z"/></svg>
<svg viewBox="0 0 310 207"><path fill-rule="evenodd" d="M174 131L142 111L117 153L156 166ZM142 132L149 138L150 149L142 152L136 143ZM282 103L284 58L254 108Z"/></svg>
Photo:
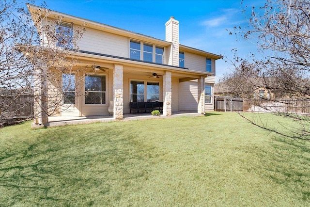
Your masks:
<svg viewBox="0 0 310 207"><path fill-rule="evenodd" d="M242 2L244 3L246 1ZM245 7L247 10L247 6ZM263 54L265 58L258 60L252 56L250 61L246 61L256 71L254 77L241 73L245 63L241 58L236 59L236 62L241 64L235 68L234 73L241 75L245 81L259 79L262 87L282 97L282 99L277 99L276 96L269 97L279 107L278 110L274 110L275 107L265 105L265 110L291 118L298 123L299 127L292 128L291 135L286 135L309 140L310 1L267 0L263 7L251 8L248 22L249 26L241 36L254 42L259 48L260 55ZM237 27L234 29L236 34L241 33L236 32ZM281 111L281 106L290 104L283 97L306 103L300 106L304 107L301 110L304 114L300 114L300 111ZM290 107L296 108L296 106ZM259 125L257 122L252 123ZM281 133L268 125L260 127Z"/></svg>

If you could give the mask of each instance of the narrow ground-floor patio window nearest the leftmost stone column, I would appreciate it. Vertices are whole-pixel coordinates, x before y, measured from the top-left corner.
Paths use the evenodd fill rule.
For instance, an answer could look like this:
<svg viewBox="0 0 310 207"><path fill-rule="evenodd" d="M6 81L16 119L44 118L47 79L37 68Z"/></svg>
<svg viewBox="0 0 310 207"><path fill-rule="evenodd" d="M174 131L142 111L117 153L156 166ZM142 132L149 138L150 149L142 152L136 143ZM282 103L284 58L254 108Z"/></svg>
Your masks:
<svg viewBox="0 0 310 207"><path fill-rule="evenodd" d="M63 104L76 103L75 88L76 88L75 74L62 74Z"/></svg>

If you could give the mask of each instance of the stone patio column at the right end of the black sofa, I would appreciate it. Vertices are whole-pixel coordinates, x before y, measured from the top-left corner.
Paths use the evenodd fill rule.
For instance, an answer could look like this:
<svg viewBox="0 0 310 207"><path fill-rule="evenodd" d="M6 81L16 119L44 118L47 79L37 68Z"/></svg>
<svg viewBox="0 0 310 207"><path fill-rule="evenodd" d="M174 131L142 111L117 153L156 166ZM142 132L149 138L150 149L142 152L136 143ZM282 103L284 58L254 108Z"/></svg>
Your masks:
<svg viewBox="0 0 310 207"><path fill-rule="evenodd" d="M171 116L171 72L166 71L163 75L163 115Z"/></svg>

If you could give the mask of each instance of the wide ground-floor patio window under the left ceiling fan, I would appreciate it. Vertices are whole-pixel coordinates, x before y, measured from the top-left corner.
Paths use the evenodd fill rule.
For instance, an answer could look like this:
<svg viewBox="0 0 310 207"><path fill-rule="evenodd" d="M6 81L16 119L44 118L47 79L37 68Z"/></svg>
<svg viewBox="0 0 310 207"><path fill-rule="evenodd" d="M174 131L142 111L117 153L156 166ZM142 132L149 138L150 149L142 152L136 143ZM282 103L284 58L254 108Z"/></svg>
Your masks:
<svg viewBox="0 0 310 207"><path fill-rule="evenodd" d="M85 76L85 104L106 103L106 77Z"/></svg>

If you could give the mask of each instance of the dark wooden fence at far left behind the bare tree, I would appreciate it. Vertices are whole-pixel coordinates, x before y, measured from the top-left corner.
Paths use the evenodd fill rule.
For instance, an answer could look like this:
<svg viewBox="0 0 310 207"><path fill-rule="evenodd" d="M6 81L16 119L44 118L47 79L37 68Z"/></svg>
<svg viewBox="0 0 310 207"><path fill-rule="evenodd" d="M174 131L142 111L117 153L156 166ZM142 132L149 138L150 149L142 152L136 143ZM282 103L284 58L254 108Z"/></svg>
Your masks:
<svg viewBox="0 0 310 207"><path fill-rule="evenodd" d="M0 95L0 104L0 126L33 118L33 93Z"/></svg>

